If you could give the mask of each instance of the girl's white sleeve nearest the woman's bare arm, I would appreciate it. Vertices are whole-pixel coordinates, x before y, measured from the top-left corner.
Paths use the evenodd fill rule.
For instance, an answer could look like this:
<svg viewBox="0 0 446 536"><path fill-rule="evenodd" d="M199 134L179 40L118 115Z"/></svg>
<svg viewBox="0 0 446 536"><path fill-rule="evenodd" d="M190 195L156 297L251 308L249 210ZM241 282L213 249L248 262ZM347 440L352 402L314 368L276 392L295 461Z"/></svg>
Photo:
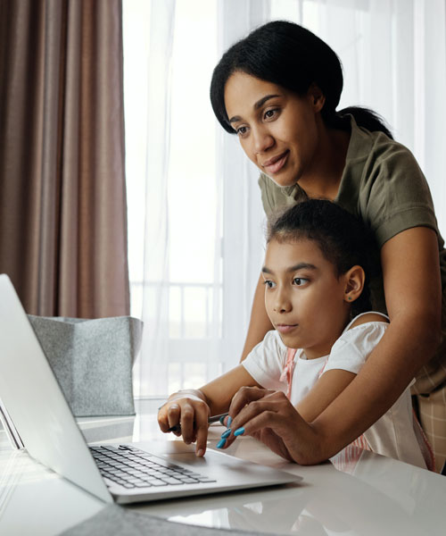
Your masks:
<svg viewBox="0 0 446 536"><path fill-rule="evenodd" d="M359 373L388 325L387 322L368 322L345 331L333 345L324 373L335 369Z"/></svg>

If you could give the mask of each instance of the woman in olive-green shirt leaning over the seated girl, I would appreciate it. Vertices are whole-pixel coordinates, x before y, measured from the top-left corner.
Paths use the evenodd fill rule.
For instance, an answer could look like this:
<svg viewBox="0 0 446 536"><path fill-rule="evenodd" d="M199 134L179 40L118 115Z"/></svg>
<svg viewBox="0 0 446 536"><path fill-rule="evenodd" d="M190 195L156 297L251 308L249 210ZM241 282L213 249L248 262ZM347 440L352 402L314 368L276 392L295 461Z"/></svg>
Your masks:
<svg viewBox="0 0 446 536"><path fill-rule="evenodd" d="M300 197L325 197L361 218L376 239L382 273L371 282L373 306L391 323L358 376L311 423L302 440L309 458L317 463L355 440L417 377L413 392L440 469L446 458L446 439L439 439L446 438L443 240L413 155L376 114L354 107L336 112L342 88L341 64L329 46L297 24L274 21L223 55L211 104L259 167L268 216ZM259 281L244 356L270 329ZM270 412L280 411L267 391L244 389L237 397L237 408L261 401L250 406L265 427Z"/></svg>

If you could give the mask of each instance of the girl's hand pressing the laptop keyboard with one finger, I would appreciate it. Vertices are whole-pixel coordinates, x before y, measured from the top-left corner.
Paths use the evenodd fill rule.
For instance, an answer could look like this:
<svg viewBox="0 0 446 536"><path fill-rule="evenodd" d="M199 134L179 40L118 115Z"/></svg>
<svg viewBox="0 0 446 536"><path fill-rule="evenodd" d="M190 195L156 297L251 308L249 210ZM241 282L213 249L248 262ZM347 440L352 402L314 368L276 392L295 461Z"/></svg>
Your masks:
<svg viewBox="0 0 446 536"><path fill-rule="evenodd" d="M179 424L180 430L173 433L182 435L186 445L196 441L196 455L204 456L210 415L211 410L201 391L179 391L170 395L169 400L161 406L158 411L158 424L163 432L168 432Z"/></svg>

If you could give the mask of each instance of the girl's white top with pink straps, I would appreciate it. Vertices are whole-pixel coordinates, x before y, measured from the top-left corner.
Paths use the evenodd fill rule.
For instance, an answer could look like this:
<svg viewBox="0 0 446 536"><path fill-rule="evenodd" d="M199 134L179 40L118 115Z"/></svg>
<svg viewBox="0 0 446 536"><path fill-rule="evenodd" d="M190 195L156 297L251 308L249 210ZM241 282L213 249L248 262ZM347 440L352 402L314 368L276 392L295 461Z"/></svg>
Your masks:
<svg viewBox="0 0 446 536"><path fill-rule="evenodd" d="M384 314L376 314L387 319ZM351 328L359 316L348 324L328 356L306 359L303 350L286 348L277 331L268 331L242 364L262 387L287 393L296 406L323 373L334 369L359 373L389 325L388 322L366 322ZM421 427L414 421L409 387L361 438L365 439L363 444L377 454L433 468L432 450Z"/></svg>

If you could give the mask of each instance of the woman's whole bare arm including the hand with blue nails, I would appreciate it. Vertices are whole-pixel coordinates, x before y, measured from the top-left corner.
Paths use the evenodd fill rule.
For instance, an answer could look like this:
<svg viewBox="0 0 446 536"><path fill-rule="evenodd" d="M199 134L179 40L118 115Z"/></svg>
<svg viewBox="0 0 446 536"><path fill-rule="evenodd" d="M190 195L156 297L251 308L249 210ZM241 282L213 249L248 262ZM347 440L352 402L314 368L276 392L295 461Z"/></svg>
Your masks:
<svg viewBox="0 0 446 536"><path fill-rule="evenodd" d="M255 434L269 428L294 461L318 464L359 437L401 396L440 339L442 288L434 230L402 231L384 244L381 261L391 322L353 381L312 423L282 393L241 389L230 409L233 430L243 426L245 433ZM243 409L233 413L237 405Z"/></svg>

